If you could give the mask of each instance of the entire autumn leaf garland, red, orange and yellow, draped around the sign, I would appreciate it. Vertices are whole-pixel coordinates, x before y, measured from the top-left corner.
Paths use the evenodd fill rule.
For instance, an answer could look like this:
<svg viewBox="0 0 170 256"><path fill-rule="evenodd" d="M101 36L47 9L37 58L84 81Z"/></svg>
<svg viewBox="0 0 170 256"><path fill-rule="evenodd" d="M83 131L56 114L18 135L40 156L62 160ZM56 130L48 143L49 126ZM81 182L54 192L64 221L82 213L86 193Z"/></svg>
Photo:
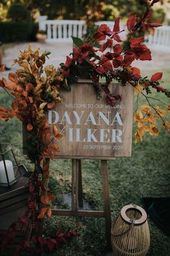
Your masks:
<svg viewBox="0 0 170 256"><path fill-rule="evenodd" d="M156 127L156 121L161 119L163 126L169 131L170 123L164 120L166 111L150 103L151 90L164 93L170 96L170 92L162 87L162 73L153 74L151 79L140 76L140 69L132 67L134 60L151 60L151 51L143 43L144 37L135 37L138 30L142 29L143 33L149 29L154 29L160 25L148 22L151 14L151 7L158 0L148 1L145 14L141 19L136 15L128 18L127 27L129 31L128 40L122 45L120 37L120 18L115 20L113 30L107 25L101 25L96 31L90 33L84 40L73 37L73 53L67 56L66 63L61 64L58 69L53 65L44 68L45 58L50 53L45 52L40 55L40 49L33 51L31 46L21 53L18 59L14 60L19 64L21 69L16 73L9 73L9 81L0 80L1 88L13 98L12 109L0 106L0 120L8 121L10 118L17 116L27 128L27 155L32 163L35 163L35 169L32 172L29 182L30 197L28 200L28 209L24 218L9 227L2 240L3 247L10 244L14 239L16 227L19 223L25 223L30 220L32 234L29 241L25 240L19 244L17 253L24 249L36 253L38 249L43 251L43 244L48 244L48 249L57 247L57 238L50 239L48 243L41 236L35 235L40 230L40 220L45 216L51 216L50 203L54 195L48 191L45 180L49 177L48 165L43 166L45 158L53 158L58 152L58 145L55 139L61 139L62 135L58 132L58 127L53 125L53 134L50 133L48 119L45 111L55 106L55 103L61 101L59 94L60 88L71 90L71 84L78 81L78 77L91 79L94 83L94 89L97 98L101 97L104 91L106 101L115 106L121 95L110 93L109 83L112 80L120 82L122 85L130 83L135 91L146 98L148 103L140 106L135 113L134 120L138 123L135 133L135 141L142 140L145 132L157 136L159 133ZM109 51L108 51L109 50ZM4 66L1 67L1 71ZM43 74L45 71L45 75ZM100 84L100 79L105 79L104 84ZM9 90L12 92L9 93ZM156 98L157 100L157 98ZM170 110L170 105L167 105ZM41 176L42 174L42 176ZM42 192L41 197L40 192ZM42 203L40 213L38 213L39 202ZM64 235L63 235L64 236ZM69 231L66 237L77 236L76 232ZM47 241L46 241L47 242ZM32 249L32 244L34 249Z"/></svg>

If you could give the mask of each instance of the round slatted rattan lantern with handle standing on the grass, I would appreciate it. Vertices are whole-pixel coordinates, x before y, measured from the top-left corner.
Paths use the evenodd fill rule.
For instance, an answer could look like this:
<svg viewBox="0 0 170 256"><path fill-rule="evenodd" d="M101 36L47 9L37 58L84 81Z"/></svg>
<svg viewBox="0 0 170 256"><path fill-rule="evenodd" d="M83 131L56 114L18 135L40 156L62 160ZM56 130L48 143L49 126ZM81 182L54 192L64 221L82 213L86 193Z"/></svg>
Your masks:
<svg viewBox="0 0 170 256"><path fill-rule="evenodd" d="M137 205L126 205L112 226L115 256L144 256L150 245L147 214Z"/></svg>

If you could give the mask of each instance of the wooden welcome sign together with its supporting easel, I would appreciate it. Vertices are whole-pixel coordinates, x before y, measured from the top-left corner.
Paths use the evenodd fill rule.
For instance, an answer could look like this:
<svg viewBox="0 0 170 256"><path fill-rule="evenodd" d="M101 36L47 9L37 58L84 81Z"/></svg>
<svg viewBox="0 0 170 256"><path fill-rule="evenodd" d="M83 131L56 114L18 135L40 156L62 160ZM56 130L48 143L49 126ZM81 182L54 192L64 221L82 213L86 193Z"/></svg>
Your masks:
<svg viewBox="0 0 170 256"><path fill-rule="evenodd" d="M101 100L89 80L79 80L71 85L71 92L61 91L61 103L47 113L53 124L63 134L56 140L60 152L56 158L72 158L72 206L71 210L53 209L55 216L104 217L107 242L110 246L111 216L109 205L109 179L107 160L131 155L133 126L133 86L110 84L111 93L122 98L110 106L103 93ZM81 159L100 159L104 210L79 210L83 206ZM49 158L45 164L50 164ZM47 181L48 183L48 181Z"/></svg>

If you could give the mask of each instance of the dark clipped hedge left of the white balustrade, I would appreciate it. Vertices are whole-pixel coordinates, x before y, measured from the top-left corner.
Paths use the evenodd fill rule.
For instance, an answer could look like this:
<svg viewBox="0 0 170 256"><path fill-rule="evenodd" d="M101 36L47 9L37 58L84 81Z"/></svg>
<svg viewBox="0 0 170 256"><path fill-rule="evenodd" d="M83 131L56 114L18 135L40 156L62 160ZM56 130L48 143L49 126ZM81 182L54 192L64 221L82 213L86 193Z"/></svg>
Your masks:
<svg viewBox="0 0 170 256"><path fill-rule="evenodd" d="M0 34L3 43L35 40L37 24L34 22L0 22Z"/></svg>

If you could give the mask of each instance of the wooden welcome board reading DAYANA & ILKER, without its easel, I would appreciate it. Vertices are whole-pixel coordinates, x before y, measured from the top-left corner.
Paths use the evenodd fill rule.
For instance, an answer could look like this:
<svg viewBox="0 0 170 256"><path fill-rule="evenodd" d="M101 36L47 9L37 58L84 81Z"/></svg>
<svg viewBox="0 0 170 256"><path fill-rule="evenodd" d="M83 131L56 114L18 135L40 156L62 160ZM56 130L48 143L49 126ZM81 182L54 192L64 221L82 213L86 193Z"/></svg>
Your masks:
<svg viewBox="0 0 170 256"><path fill-rule="evenodd" d="M122 99L110 106L103 95L97 100L91 82L71 85L61 91L63 101L48 111L48 121L63 134L56 143L61 150L56 158L112 159L131 155L133 126L133 87L109 85ZM105 93L104 93L105 94Z"/></svg>

